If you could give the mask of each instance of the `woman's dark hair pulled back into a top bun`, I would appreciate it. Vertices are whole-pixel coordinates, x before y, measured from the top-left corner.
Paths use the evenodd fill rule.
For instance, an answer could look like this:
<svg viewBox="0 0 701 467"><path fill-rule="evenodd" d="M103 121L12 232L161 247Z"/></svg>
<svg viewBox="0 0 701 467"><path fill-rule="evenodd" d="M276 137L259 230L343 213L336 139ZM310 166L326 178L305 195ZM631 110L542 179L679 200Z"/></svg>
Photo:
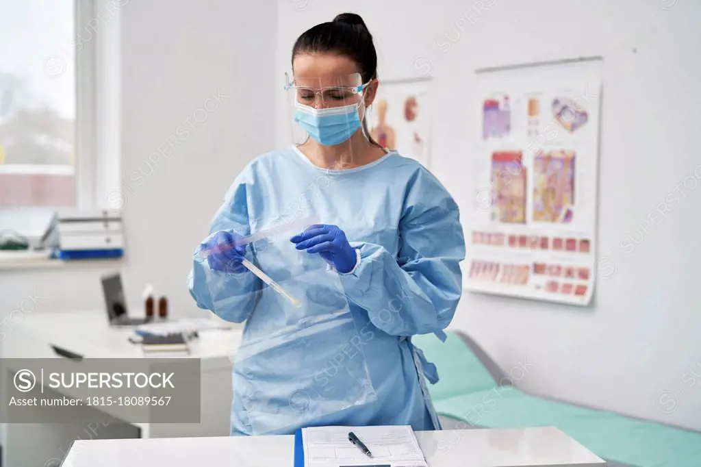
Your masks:
<svg viewBox="0 0 701 467"><path fill-rule="evenodd" d="M294 57L303 53L336 53L355 62L362 82L377 75L377 53L365 21L355 13L341 13L331 22L308 29L292 47Z"/></svg>

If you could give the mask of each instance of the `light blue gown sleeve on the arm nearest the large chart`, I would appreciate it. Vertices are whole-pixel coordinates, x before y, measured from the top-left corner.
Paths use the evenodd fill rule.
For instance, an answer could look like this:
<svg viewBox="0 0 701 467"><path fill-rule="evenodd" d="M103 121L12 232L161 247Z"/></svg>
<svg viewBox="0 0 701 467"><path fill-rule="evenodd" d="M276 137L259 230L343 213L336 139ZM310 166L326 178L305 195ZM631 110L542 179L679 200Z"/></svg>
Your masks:
<svg viewBox="0 0 701 467"><path fill-rule="evenodd" d="M407 189L399 236L397 257L381 245L351 242L360 262L341 275L346 296L388 334L440 337L461 297L465 239L457 204L425 169Z"/></svg>

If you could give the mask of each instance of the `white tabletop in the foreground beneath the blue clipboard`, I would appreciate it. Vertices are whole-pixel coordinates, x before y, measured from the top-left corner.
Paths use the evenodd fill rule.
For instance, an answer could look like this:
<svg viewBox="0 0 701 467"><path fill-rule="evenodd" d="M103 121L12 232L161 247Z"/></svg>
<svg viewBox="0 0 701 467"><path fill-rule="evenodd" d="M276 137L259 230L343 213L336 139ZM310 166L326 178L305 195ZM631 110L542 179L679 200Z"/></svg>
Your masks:
<svg viewBox="0 0 701 467"><path fill-rule="evenodd" d="M553 427L417 431L430 467L605 467ZM292 467L293 436L76 441L62 467Z"/></svg>

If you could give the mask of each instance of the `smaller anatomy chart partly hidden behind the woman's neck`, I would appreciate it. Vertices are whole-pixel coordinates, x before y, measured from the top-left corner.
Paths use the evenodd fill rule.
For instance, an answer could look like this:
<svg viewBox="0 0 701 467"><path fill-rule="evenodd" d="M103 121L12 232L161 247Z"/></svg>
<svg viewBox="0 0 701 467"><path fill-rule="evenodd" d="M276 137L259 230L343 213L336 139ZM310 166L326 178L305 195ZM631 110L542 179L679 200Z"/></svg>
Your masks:
<svg viewBox="0 0 701 467"><path fill-rule="evenodd" d="M381 81L368 115L370 135L376 142L426 168L430 163L429 83L430 79Z"/></svg>

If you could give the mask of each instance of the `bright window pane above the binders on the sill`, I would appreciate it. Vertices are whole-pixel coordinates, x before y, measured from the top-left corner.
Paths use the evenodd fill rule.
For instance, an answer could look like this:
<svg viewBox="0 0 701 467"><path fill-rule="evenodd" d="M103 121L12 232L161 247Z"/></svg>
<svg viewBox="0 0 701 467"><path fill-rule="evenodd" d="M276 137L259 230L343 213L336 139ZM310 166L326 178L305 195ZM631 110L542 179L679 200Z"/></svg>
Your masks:
<svg viewBox="0 0 701 467"><path fill-rule="evenodd" d="M0 209L74 206L84 195L81 158L92 151L83 153L76 122L90 115L76 120L76 109L91 55L76 40L81 4L0 0Z"/></svg>

